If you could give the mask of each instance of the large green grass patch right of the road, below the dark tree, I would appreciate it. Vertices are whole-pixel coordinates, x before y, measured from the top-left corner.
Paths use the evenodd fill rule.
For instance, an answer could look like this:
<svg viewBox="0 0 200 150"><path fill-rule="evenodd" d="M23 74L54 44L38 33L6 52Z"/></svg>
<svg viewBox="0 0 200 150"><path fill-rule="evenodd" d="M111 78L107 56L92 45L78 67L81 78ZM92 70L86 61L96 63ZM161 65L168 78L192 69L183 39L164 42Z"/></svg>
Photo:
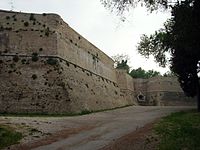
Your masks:
<svg viewBox="0 0 200 150"><path fill-rule="evenodd" d="M164 117L154 127L160 150L200 150L200 113L178 112Z"/></svg>

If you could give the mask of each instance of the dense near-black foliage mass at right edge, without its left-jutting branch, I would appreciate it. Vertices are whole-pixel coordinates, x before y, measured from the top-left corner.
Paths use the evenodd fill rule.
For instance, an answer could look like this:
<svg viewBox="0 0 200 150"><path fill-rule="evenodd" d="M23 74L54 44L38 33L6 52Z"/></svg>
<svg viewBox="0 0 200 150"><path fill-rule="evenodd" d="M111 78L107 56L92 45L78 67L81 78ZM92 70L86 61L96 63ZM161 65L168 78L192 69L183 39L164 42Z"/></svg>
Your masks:
<svg viewBox="0 0 200 150"><path fill-rule="evenodd" d="M178 74L188 96L198 94L200 65L200 2L188 0L176 5L172 15L171 68Z"/></svg>

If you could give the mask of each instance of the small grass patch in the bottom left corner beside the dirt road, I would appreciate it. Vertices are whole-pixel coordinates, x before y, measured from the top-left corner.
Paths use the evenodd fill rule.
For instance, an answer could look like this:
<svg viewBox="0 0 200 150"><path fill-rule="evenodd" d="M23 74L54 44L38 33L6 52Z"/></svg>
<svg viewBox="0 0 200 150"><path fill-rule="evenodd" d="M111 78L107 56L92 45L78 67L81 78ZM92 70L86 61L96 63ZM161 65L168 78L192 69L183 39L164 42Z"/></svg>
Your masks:
<svg viewBox="0 0 200 150"><path fill-rule="evenodd" d="M17 144L20 139L22 139L21 133L11 127L0 125L0 149Z"/></svg>

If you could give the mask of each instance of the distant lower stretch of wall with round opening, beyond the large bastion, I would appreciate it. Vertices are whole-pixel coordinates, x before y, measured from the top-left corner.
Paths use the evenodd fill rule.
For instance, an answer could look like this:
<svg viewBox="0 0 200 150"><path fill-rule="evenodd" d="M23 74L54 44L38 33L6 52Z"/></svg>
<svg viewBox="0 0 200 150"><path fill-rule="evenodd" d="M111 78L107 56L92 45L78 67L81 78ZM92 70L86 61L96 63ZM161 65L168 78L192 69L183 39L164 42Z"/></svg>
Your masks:
<svg viewBox="0 0 200 150"><path fill-rule="evenodd" d="M131 78L117 69L118 84L128 100L139 105L195 105L196 99L186 97L175 77ZM127 78L127 76L129 76ZM129 86L128 84L131 86ZM139 98L142 96L141 98Z"/></svg>

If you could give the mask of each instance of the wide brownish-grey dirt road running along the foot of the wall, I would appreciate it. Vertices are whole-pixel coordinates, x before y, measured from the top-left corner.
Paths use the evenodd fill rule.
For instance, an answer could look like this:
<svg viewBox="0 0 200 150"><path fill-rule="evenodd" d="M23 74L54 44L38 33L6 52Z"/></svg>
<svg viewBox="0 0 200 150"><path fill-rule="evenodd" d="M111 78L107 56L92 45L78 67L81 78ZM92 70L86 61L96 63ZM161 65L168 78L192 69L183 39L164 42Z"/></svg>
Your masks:
<svg viewBox="0 0 200 150"><path fill-rule="evenodd" d="M171 112L194 107L131 106L112 111L93 113L77 117L33 117L6 118L10 124L26 124L44 135L38 140L29 140L16 149L33 150L98 150L112 144L155 119ZM5 121L0 118L0 121Z"/></svg>

